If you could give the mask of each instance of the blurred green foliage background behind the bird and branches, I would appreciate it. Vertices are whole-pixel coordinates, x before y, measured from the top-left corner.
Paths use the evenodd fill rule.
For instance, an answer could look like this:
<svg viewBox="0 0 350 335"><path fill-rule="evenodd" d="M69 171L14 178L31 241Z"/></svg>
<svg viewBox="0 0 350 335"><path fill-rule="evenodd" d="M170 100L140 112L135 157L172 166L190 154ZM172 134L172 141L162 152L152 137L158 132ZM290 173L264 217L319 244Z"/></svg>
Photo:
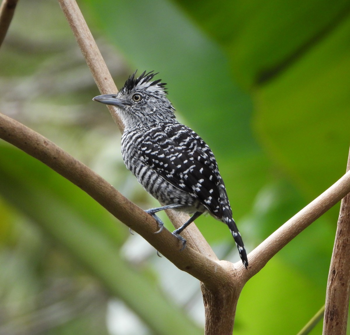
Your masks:
<svg viewBox="0 0 350 335"><path fill-rule="evenodd" d="M78 2L117 87L167 82L217 158L251 251L340 178L349 152L350 2ZM120 137L55 0L21 0L0 49L0 111L142 208ZM111 92L112 93L112 92ZM234 334L296 334L324 304L339 204L241 293ZM171 225L162 217L167 227ZM226 226L196 220L238 261ZM89 196L0 141L0 334L203 334L199 282ZM322 321L311 332L320 334ZM350 334L350 333L349 333Z"/></svg>

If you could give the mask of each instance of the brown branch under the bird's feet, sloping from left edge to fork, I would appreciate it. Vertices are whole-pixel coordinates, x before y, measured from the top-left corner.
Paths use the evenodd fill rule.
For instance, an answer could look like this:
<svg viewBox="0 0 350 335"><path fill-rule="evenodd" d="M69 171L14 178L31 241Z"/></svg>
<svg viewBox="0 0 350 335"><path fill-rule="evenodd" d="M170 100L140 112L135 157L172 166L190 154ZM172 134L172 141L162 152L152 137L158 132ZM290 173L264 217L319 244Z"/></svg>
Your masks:
<svg viewBox="0 0 350 335"><path fill-rule="evenodd" d="M0 138L37 158L80 187L107 211L144 237L179 269L193 275L208 287L214 288L228 281L228 271L224 266L191 247L179 252L181 248L179 240L166 228L161 233L154 234L158 230L158 225L151 216L49 139L1 113Z"/></svg>

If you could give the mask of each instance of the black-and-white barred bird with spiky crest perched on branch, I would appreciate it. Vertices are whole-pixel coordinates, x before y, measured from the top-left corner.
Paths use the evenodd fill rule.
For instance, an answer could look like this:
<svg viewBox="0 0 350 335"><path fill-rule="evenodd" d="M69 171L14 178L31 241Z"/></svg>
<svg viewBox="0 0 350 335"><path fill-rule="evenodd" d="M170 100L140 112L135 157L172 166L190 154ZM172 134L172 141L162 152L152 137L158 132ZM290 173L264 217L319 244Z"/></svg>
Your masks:
<svg viewBox="0 0 350 335"><path fill-rule="evenodd" d="M243 240L232 218L232 210L216 159L193 130L177 122L168 100L165 83L154 80L153 71L131 75L118 94L93 98L117 106L125 129L121 151L126 167L153 197L165 206L151 208L160 232L162 221L156 212L167 208L194 213L173 232L186 246L180 233L204 212L231 230L244 266L248 267Z"/></svg>

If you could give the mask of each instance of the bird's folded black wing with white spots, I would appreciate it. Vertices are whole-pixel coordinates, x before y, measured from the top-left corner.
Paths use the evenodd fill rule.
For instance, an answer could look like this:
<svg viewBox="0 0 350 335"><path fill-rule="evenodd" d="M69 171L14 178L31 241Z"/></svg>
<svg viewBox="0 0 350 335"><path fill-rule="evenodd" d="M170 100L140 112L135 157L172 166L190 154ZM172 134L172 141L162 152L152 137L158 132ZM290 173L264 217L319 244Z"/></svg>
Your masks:
<svg viewBox="0 0 350 335"><path fill-rule="evenodd" d="M225 186L212 151L193 130L182 124L159 126L139 150L145 163L170 184L190 193L215 216L222 217Z"/></svg>

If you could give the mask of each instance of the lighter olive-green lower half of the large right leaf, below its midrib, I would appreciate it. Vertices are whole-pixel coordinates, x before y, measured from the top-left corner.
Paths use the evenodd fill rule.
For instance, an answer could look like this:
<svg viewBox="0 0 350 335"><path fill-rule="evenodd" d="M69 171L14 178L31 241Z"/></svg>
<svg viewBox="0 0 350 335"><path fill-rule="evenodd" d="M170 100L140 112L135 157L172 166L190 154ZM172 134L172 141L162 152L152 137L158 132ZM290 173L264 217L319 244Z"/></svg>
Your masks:
<svg viewBox="0 0 350 335"><path fill-rule="evenodd" d="M308 196L345 173L349 152L350 20L257 92L261 143Z"/></svg>

